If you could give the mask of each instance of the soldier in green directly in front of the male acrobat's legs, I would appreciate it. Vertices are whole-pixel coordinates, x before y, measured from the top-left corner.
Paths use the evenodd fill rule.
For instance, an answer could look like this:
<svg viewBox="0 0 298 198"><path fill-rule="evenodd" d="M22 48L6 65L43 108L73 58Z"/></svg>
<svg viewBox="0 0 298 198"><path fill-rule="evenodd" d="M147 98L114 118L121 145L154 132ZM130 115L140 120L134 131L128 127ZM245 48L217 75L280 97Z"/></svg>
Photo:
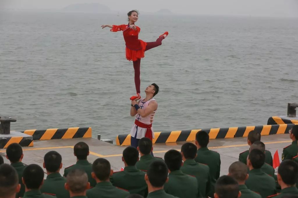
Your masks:
<svg viewBox="0 0 298 198"><path fill-rule="evenodd" d="M150 153L153 150L152 141L147 138L143 137L139 140L139 146L137 147L141 157L140 160L136 162L136 168L139 170L147 171L149 165L156 160L163 161L162 158L153 157Z"/></svg>

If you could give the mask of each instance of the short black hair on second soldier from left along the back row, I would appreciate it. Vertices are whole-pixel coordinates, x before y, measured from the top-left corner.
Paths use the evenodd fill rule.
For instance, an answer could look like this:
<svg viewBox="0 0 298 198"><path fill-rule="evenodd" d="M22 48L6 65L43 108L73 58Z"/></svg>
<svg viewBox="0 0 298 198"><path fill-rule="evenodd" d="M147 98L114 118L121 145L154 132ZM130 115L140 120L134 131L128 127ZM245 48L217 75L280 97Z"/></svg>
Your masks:
<svg viewBox="0 0 298 198"><path fill-rule="evenodd" d="M49 151L44 155L44 165L49 172L57 172L61 162L62 157L57 151Z"/></svg>

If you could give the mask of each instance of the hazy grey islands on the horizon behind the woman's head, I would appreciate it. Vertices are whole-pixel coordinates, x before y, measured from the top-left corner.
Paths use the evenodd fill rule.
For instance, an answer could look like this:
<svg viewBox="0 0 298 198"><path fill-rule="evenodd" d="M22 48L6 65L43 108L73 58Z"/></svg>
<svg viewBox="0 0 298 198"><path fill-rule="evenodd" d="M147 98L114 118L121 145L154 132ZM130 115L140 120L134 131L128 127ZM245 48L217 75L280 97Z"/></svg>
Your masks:
<svg viewBox="0 0 298 198"><path fill-rule="evenodd" d="M104 13L116 14L127 13L126 11L111 10L108 6L99 3L83 3L83 4L70 4L61 9L63 12L85 12L85 13ZM142 12L141 14L158 14L158 15L173 15L169 9L161 9L157 12Z"/></svg>

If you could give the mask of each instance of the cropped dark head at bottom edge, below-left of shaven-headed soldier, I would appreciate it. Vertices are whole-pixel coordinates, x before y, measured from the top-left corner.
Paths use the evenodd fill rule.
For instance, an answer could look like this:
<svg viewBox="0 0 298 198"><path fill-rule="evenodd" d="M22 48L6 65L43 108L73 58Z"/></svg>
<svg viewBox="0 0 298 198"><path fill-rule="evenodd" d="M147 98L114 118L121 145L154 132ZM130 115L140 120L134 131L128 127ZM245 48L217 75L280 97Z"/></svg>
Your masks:
<svg viewBox="0 0 298 198"><path fill-rule="evenodd" d="M233 177L223 175L215 183L215 193L219 198L237 198L239 185Z"/></svg>

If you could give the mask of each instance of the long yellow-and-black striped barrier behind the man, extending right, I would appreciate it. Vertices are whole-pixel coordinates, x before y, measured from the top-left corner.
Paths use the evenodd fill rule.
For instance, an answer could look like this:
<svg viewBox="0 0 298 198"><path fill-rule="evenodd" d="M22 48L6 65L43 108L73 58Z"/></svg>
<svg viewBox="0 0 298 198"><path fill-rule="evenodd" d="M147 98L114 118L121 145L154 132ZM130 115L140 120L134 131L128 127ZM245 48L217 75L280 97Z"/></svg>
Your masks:
<svg viewBox="0 0 298 198"><path fill-rule="evenodd" d="M298 125L298 123L297 123ZM289 133L289 130L294 124L281 125L261 125L261 126L246 126L246 127L230 127L230 128L209 128L209 129L195 129L186 131L170 131L170 132L154 132L155 138L152 140L153 144L168 143L168 142L184 142L194 141L195 134L198 131L204 130L209 133L209 139L219 138L234 138L247 137L252 130L258 131L261 135L284 134ZM130 135L118 135L116 144L120 146L130 145Z"/></svg>

